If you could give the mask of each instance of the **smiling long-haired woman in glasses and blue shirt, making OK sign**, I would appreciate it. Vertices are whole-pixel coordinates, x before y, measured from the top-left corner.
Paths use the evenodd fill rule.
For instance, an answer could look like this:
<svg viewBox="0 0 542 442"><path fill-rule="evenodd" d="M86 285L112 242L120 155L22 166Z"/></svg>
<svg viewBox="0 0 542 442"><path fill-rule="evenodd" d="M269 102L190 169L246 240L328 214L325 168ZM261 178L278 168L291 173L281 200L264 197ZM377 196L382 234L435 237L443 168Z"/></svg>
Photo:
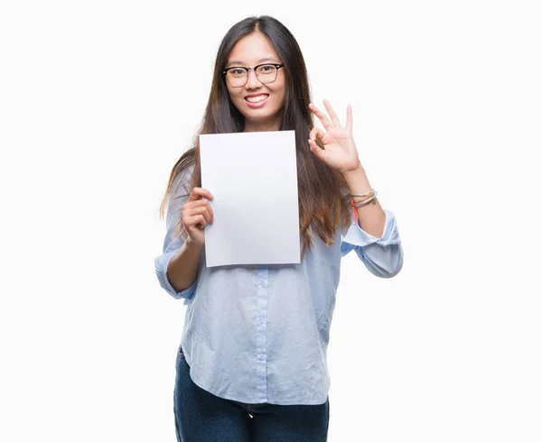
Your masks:
<svg viewBox="0 0 542 442"><path fill-rule="evenodd" d="M188 305L173 398L178 440L326 440L341 256L355 250L384 278L402 267L395 217L361 166L351 108L343 127L324 105L329 117L310 103L302 52L282 23L249 17L227 32L199 134L295 131L302 260L206 267L213 196L201 189L196 136L173 167L161 207L164 215L169 201L164 254L155 259L161 286Z"/></svg>

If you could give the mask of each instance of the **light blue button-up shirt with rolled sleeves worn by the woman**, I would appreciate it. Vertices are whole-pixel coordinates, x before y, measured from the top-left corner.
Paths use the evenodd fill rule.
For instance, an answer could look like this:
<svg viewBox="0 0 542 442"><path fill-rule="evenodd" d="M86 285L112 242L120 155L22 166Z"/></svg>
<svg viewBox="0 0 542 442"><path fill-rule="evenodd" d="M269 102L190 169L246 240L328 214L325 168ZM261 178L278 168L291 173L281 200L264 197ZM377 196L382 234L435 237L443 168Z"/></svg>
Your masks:
<svg viewBox="0 0 542 442"><path fill-rule="evenodd" d="M182 183L176 196L190 194L192 170L175 181ZM313 234L313 249L298 264L207 268L203 249L196 281L176 291L167 267L183 243L173 230L187 198L169 200L164 253L154 266L164 290L187 305L181 346L192 381L244 403L322 404L330 388L326 357L341 257L354 250L369 272L397 274L403 250L395 216L385 209L377 238L360 228L352 210L350 227L337 230L334 244Z"/></svg>

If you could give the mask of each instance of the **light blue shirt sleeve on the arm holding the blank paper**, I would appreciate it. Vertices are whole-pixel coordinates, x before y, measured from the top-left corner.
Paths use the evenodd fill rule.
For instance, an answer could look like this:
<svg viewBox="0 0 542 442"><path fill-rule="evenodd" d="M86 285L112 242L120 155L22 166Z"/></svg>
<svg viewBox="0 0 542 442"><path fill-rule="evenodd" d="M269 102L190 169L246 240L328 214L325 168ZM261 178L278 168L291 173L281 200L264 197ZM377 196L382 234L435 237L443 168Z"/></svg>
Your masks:
<svg viewBox="0 0 542 442"><path fill-rule="evenodd" d="M191 168L193 170L193 166ZM160 286L167 291L174 299L184 299L184 305L190 303L197 286L197 279L194 283L184 290L176 291L173 289L167 276L167 267L173 256L179 252L184 244L182 238L177 238L174 234L175 226L181 216L182 206L190 196L190 181L192 173L183 171L173 182L172 195L170 195L167 207L167 216L165 218L166 234L164 238L163 254L154 258L154 269L160 282ZM180 184L179 184L180 183Z"/></svg>

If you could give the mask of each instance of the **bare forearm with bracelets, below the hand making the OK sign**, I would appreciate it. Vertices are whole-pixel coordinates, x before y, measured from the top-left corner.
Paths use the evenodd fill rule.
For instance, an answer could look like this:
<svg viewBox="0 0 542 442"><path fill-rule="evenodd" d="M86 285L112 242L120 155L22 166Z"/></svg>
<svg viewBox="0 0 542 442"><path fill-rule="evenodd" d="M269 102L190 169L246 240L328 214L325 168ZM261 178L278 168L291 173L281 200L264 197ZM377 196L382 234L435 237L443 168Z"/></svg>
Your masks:
<svg viewBox="0 0 542 442"><path fill-rule="evenodd" d="M362 195L370 192L369 180L361 164L356 170L344 172L343 176L351 194ZM376 204L373 204L373 201ZM355 209L358 211L358 217L360 218L360 227L368 234L380 238L386 224L386 213L380 206L378 198L373 201Z"/></svg>

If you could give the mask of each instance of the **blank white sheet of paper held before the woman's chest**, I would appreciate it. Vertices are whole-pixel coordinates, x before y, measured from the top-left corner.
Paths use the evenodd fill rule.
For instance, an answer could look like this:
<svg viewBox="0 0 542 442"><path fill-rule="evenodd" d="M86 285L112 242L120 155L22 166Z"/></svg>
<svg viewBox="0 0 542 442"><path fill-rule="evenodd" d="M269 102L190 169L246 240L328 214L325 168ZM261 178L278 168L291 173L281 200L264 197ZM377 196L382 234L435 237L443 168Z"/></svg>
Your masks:
<svg viewBox="0 0 542 442"><path fill-rule="evenodd" d="M299 263L294 131L200 135L207 267Z"/></svg>

